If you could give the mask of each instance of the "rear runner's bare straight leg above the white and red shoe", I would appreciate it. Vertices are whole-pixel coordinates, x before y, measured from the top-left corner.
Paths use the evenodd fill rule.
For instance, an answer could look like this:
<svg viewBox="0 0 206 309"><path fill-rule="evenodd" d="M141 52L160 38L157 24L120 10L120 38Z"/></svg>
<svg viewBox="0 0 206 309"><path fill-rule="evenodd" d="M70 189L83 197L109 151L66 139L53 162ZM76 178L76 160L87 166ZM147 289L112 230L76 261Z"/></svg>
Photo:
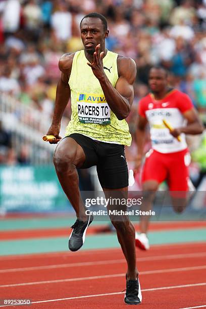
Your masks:
<svg viewBox="0 0 206 309"><path fill-rule="evenodd" d="M147 180L142 184L143 199L140 207L141 211L147 212L152 209L152 202L155 198L159 183L156 180ZM149 216L140 216L140 233L147 233L149 226Z"/></svg>

